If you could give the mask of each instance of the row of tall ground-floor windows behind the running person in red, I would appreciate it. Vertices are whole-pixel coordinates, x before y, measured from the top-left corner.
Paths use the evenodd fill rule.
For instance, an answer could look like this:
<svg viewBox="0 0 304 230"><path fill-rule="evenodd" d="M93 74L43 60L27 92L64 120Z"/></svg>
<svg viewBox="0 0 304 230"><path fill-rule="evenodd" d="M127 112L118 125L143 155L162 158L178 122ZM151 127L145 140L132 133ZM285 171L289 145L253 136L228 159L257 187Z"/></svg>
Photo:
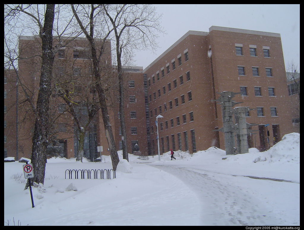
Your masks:
<svg viewBox="0 0 304 230"><path fill-rule="evenodd" d="M188 131L184 131L182 132L183 134L183 138L181 136L181 133L177 133L177 147L180 150L183 151L188 151L189 150L189 141L188 141ZM194 129L190 130L190 143L191 143L191 147L192 147L192 153L196 152L196 144L195 144L195 131ZM184 141L184 149L182 149L182 139ZM170 146L170 137L169 136L165 136L165 137L161 137L160 138L160 144L161 144L161 153L165 152L165 142L166 141L166 150L167 152L170 151L170 149L172 149L173 151L176 151L176 145L175 145L175 134L171 134L171 146ZM157 142L157 140L156 140ZM152 146L153 146L153 151L155 152L155 148L154 148L154 140L152 140Z"/></svg>

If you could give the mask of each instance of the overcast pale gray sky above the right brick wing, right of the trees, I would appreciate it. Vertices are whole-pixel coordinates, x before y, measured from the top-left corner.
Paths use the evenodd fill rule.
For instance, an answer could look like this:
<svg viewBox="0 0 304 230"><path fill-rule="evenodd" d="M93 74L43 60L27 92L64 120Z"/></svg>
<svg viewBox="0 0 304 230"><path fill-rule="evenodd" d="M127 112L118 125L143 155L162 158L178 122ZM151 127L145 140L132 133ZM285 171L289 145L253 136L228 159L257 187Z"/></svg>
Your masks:
<svg viewBox="0 0 304 230"><path fill-rule="evenodd" d="M166 34L158 39L156 54L137 52L137 66L146 68L189 30L209 32L211 26L223 26L281 34L285 67L293 61L300 72L299 4L160 4L156 7L163 14L161 25Z"/></svg>

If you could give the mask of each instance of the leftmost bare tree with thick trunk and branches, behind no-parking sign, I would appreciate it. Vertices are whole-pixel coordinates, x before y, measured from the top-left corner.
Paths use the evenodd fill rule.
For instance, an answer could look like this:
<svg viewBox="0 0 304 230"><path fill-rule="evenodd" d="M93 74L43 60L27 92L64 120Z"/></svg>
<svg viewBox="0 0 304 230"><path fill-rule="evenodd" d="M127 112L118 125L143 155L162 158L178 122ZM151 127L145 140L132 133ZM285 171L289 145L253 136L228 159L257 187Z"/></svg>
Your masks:
<svg viewBox="0 0 304 230"><path fill-rule="evenodd" d="M58 28L60 26L58 26L58 22L60 21L60 12L60 6L57 5L57 8L55 8L55 4L5 5L5 22L7 22L5 25L9 25L9 23L11 23L10 28L12 28L8 31L5 30L7 32L5 33L5 36L7 36L9 32L15 31L20 27L24 27L24 31L37 34L36 36L33 36L33 38L36 39L36 45L38 47L40 46L40 52L36 53L32 57L27 57L30 56L29 53L24 56L26 59L32 59L34 63L40 65L40 71L35 69L37 73L40 72L38 92L29 91L29 88L26 88L26 83L21 81L19 74L17 74L17 79L18 83L25 83L20 85L22 86L26 100L30 104L31 111L34 114L35 125L33 129L31 156L31 162L33 163L33 168L35 170L33 180L42 184L44 183L46 148L49 143L50 133L50 95L52 88L54 55L60 46L62 46L61 42L57 43L56 46L53 46L54 20L57 20L56 33L59 35ZM14 24L17 26L14 27ZM68 28L69 26L67 24L63 30L67 30ZM62 33L59 36L61 35ZM15 51L12 52L8 39L5 39L5 41L6 48L10 51L8 53L12 54L5 64L14 67L17 72L17 61L20 61L18 49L15 49ZM27 183L26 188L28 185L29 184Z"/></svg>

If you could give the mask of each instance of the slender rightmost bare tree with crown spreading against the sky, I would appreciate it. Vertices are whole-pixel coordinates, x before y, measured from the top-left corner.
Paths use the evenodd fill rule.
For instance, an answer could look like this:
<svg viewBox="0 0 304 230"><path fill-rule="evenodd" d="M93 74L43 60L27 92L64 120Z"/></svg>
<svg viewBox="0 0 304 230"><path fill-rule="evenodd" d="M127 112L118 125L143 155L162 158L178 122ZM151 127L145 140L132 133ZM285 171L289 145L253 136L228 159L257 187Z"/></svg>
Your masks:
<svg viewBox="0 0 304 230"><path fill-rule="evenodd" d="M132 56L132 50L139 48L154 49L157 46L155 38L162 32L160 15L155 7L148 4L102 4L106 17L109 19L107 27L114 32L116 43L117 77L119 82L119 113L122 133L123 159L128 159L127 135L124 112L124 78L122 58ZM108 20L105 19L105 22Z"/></svg>

